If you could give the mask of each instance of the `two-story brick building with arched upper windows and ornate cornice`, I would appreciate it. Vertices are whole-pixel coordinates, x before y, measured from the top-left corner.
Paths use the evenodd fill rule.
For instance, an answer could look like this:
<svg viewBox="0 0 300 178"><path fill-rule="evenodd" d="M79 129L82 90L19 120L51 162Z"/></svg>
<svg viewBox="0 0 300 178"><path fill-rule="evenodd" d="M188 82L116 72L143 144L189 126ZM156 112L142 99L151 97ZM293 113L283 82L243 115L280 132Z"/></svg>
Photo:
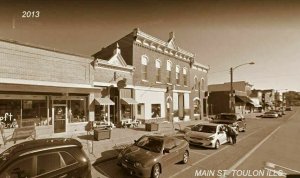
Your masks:
<svg viewBox="0 0 300 178"><path fill-rule="evenodd" d="M198 100L203 115L203 92L207 89L208 67L196 64L195 55L183 50L175 44L175 34L170 33L168 41L160 40L139 29L102 48L93 55L107 60L114 47L119 45L124 61L134 67L133 98L138 104L134 107L134 115L141 120L162 118L168 121L189 120L194 118L191 100ZM193 68L194 67L194 68ZM199 75L202 93L198 98L191 95L191 85ZM197 73L197 75L195 75ZM196 89L195 89L196 90ZM193 109L194 110L194 109Z"/></svg>

